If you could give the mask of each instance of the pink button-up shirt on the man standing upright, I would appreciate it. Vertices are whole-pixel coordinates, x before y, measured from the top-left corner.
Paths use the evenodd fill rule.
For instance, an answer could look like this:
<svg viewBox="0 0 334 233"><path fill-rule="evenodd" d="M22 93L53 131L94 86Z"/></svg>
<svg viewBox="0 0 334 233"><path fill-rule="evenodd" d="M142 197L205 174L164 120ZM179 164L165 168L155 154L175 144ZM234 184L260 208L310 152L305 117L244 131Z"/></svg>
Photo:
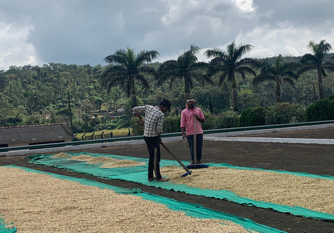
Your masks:
<svg viewBox="0 0 334 233"><path fill-rule="evenodd" d="M195 107L193 111L188 108L182 110L181 112L181 127L186 128L186 135L193 135L194 125L193 125L193 114L198 114L200 118L204 119L204 115L202 110L199 107ZM196 135L200 135L203 133L202 125L200 121L196 120Z"/></svg>

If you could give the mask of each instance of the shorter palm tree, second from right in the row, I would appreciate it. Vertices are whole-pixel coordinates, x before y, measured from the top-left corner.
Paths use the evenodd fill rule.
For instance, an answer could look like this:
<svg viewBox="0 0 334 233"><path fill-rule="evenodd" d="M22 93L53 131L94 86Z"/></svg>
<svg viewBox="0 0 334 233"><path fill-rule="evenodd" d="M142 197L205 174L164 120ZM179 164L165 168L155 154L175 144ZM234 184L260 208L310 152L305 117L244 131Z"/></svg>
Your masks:
<svg viewBox="0 0 334 233"><path fill-rule="evenodd" d="M276 103L281 102L280 94L283 83L289 83L294 87L294 80L298 78L294 70L299 67L298 62L283 62L283 56L278 55L272 66L262 68L260 74L253 79L253 85L258 85L264 81L273 81L276 83Z"/></svg>

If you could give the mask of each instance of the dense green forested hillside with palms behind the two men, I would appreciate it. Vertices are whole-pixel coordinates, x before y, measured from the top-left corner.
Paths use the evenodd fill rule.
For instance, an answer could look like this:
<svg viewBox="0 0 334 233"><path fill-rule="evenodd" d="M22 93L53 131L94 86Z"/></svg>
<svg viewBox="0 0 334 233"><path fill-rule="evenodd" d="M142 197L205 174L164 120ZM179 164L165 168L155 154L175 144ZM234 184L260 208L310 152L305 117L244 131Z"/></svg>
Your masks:
<svg viewBox="0 0 334 233"><path fill-rule="evenodd" d="M178 116L189 95L195 96L198 107L210 114L241 114L250 107L269 107L278 102L307 107L319 98L334 95L333 54L324 53L321 58L321 64L326 65L321 96L319 73L307 60L312 53L242 59L249 49L234 43L226 52L212 49L206 52L212 58L210 62L198 62L199 48L191 46L177 60L163 63L154 62L159 55L156 51L134 53L127 48L107 56L105 66L13 66L0 71L0 126L70 125L72 121L74 133L92 132L129 127L131 107L157 105L162 98L172 101L169 115ZM233 57L238 51L240 54ZM135 64L131 67L128 62L126 67L123 59L130 58ZM232 74L230 67L234 64Z"/></svg>

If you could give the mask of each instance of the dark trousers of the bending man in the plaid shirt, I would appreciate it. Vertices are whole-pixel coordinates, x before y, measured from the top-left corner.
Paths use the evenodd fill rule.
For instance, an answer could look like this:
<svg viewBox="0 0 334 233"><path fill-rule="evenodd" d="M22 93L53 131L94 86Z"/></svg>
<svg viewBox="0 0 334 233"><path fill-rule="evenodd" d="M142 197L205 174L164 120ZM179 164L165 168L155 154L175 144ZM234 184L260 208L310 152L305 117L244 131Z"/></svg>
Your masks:
<svg viewBox="0 0 334 233"><path fill-rule="evenodd" d="M153 171L157 180L161 178L160 173L160 138L157 137L144 137L146 146L148 146L148 178L153 178ZM155 168L154 168L155 164Z"/></svg>

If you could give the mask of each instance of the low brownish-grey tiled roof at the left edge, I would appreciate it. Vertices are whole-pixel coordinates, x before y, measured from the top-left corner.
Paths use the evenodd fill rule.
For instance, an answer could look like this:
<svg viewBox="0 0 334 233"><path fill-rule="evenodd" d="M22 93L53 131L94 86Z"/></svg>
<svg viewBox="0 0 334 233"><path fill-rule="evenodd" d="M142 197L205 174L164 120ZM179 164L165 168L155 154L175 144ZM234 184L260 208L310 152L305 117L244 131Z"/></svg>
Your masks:
<svg viewBox="0 0 334 233"><path fill-rule="evenodd" d="M33 144L71 139L66 123L0 128L0 144Z"/></svg>

